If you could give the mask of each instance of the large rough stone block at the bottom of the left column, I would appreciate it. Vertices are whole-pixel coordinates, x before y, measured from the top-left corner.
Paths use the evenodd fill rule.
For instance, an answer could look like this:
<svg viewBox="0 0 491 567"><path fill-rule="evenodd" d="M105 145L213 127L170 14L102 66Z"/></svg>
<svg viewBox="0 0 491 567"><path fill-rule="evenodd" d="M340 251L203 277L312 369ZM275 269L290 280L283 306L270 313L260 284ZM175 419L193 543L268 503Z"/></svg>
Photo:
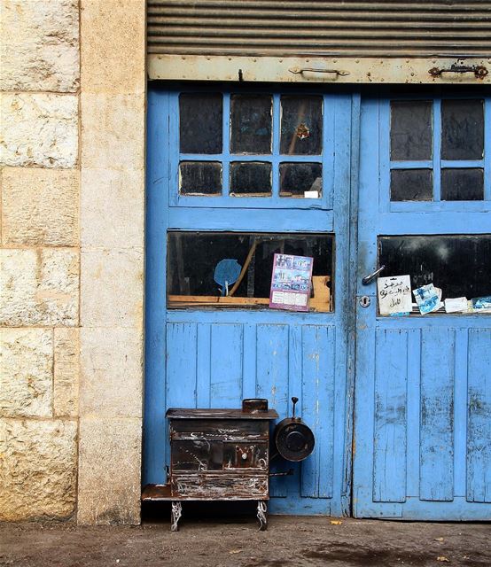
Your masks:
<svg viewBox="0 0 491 567"><path fill-rule="evenodd" d="M74 514L77 423L0 419L0 521Z"/></svg>

